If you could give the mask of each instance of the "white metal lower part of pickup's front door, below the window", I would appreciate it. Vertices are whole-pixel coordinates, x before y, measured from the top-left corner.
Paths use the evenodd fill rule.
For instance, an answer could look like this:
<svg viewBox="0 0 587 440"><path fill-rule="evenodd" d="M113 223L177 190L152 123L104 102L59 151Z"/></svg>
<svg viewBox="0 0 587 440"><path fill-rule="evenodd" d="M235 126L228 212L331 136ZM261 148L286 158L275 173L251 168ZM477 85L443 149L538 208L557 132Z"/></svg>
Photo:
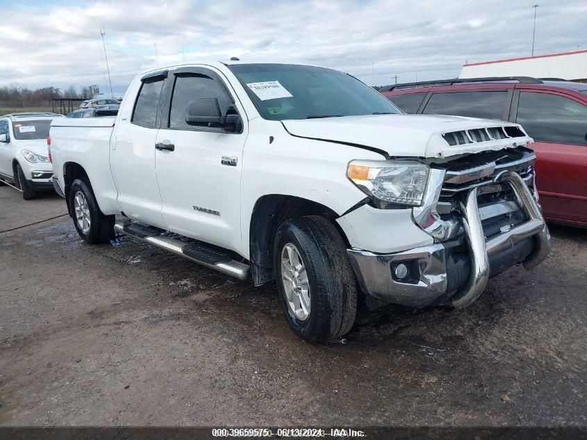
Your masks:
<svg viewBox="0 0 587 440"><path fill-rule="evenodd" d="M240 251L240 174L245 137L228 133L160 130L157 179L168 229ZM222 156L236 166L222 165Z"/></svg>

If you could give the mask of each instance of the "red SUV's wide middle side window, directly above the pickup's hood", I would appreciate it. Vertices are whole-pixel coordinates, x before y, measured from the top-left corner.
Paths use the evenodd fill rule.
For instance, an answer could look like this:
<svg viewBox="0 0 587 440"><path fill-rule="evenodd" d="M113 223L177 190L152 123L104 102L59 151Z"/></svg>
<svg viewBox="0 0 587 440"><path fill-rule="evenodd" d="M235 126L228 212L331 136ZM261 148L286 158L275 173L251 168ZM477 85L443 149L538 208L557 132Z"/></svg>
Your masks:
<svg viewBox="0 0 587 440"><path fill-rule="evenodd" d="M509 94L506 90L433 93L424 111L427 115L455 115L500 120Z"/></svg>

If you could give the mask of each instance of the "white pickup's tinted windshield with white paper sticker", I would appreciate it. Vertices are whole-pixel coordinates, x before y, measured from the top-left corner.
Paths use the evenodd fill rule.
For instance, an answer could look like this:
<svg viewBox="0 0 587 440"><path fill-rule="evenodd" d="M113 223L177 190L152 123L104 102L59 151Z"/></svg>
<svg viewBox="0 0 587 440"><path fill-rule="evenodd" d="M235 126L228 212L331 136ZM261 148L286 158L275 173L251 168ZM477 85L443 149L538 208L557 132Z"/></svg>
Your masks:
<svg viewBox="0 0 587 440"><path fill-rule="evenodd" d="M402 113L379 92L338 70L293 64L229 68L268 120Z"/></svg>

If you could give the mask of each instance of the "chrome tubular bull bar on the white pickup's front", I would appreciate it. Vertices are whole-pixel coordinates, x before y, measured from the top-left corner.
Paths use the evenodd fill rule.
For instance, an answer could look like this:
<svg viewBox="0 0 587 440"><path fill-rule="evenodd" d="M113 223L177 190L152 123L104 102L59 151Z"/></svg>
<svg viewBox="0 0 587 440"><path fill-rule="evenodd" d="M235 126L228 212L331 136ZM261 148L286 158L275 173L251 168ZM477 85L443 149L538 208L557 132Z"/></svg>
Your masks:
<svg viewBox="0 0 587 440"><path fill-rule="evenodd" d="M486 241L477 204L477 197L483 192L483 187L469 190L464 202L461 202L461 214L469 247L471 272L465 286L452 298L452 305L457 309L467 307L485 290L489 280L490 255L497 254L515 243L533 236L534 250L522 262L524 268L531 269L542 263L550 250L548 227L542 213L540 213L538 204L520 174L504 171L499 173L494 181L495 183L504 182L512 187L520 209L526 214L528 220Z"/></svg>

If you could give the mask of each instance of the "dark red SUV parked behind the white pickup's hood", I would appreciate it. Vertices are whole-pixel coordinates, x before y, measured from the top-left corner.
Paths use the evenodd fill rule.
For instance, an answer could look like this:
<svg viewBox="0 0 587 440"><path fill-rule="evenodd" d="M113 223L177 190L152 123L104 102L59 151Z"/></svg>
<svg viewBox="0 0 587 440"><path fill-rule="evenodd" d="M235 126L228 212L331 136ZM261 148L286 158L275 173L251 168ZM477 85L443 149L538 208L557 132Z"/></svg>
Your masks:
<svg viewBox="0 0 587 440"><path fill-rule="evenodd" d="M587 83L561 79L458 79L380 90L406 113L517 122L534 138L547 220L587 227Z"/></svg>

